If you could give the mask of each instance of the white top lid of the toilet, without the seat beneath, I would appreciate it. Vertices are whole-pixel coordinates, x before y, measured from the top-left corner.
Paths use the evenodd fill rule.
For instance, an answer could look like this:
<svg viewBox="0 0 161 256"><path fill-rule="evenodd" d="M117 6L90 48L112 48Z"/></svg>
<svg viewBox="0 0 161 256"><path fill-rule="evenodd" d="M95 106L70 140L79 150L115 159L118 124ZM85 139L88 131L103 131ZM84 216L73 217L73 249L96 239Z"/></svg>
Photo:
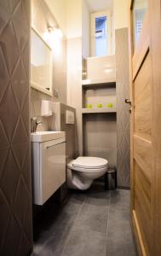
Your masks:
<svg viewBox="0 0 161 256"><path fill-rule="evenodd" d="M79 156L72 161L72 166L87 169L97 169L107 166L108 161L100 157Z"/></svg>

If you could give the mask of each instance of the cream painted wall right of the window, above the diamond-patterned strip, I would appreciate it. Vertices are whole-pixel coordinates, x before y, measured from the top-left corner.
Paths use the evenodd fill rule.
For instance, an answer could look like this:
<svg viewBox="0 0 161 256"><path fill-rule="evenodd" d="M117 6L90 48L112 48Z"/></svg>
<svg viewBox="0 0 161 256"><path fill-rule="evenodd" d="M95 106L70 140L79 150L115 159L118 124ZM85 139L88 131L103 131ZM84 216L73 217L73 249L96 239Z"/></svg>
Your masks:
<svg viewBox="0 0 161 256"><path fill-rule="evenodd" d="M113 22L115 29L129 26L130 0L113 0Z"/></svg>

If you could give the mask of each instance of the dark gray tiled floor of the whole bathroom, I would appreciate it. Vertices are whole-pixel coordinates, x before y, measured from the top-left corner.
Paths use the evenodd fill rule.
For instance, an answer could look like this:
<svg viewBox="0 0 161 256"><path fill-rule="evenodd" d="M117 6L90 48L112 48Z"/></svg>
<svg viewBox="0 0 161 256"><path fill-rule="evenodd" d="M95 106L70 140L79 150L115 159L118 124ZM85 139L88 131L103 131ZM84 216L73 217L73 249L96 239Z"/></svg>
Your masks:
<svg viewBox="0 0 161 256"><path fill-rule="evenodd" d="M63 207L44 214L34 243L34 256L136 256L129 190L73 191Z"/></svg>

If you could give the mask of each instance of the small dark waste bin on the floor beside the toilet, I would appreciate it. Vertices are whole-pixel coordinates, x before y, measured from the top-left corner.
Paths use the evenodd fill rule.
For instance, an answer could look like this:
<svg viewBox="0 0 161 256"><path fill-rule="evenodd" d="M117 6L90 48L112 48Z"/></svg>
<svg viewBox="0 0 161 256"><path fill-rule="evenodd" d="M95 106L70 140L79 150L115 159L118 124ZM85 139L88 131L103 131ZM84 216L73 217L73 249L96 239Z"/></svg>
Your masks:
<svg viewBox="0 0 161 256"><path fill-rule="evenodd" d="M112 190L117 188L117 170L109 168L105 174L105 189Z"/></svg>

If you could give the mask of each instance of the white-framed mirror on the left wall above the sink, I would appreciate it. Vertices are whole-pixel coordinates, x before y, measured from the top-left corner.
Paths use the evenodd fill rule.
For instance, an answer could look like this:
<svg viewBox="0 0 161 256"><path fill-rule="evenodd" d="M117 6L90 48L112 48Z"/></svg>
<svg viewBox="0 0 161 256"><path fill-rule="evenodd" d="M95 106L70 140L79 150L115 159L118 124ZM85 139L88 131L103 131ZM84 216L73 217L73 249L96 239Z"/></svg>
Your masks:
<svg viewBox="0 0 161 256"><path fill-rule="evenodd" d="M31 86L52 96L52 49L32 27Z"/></svg>

